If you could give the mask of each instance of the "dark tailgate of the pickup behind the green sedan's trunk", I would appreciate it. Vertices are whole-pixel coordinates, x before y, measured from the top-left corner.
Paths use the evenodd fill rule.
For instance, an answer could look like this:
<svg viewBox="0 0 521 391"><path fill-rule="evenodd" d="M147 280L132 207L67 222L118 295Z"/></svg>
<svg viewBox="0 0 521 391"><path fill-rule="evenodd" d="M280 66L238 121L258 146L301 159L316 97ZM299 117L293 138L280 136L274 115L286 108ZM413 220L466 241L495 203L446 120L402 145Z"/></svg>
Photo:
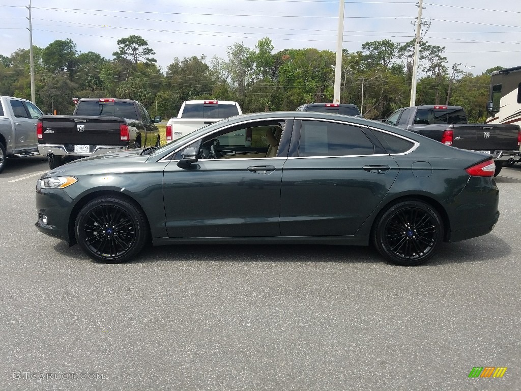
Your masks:
<svg viewBox="0 0 521 391"><path fill-rule="evenodd" d="M515 151L519 125L455 124L452 146L480 151Z"/></svg>

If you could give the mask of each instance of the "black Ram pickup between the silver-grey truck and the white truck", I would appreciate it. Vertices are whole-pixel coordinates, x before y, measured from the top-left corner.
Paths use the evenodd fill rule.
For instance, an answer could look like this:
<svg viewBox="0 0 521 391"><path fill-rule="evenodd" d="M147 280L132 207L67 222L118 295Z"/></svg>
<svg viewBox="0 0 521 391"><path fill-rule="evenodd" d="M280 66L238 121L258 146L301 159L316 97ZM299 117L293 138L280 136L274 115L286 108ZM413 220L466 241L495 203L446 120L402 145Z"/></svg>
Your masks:
<svg viewBox="0 0 521 391"><path fill-rule="evenodd" d="M73 115L44 115L36 125L38 152L51 169L100 153L160 146L159 129L138 101L80 99Z"/></svg>

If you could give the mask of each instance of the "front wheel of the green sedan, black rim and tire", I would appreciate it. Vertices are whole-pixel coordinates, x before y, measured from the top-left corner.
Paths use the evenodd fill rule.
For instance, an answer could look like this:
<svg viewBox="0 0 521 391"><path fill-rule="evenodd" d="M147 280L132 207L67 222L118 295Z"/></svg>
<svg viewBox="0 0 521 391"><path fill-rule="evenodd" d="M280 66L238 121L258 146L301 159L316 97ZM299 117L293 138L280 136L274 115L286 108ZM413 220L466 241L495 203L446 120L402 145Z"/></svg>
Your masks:
<svg viewBox="0 0 521 391"><path fill-rule="evenodd" d="M103 196L89 201L76 217L76 240L82 250L101 263L130 261L148 240L148 222L133 201Z"/></svg>

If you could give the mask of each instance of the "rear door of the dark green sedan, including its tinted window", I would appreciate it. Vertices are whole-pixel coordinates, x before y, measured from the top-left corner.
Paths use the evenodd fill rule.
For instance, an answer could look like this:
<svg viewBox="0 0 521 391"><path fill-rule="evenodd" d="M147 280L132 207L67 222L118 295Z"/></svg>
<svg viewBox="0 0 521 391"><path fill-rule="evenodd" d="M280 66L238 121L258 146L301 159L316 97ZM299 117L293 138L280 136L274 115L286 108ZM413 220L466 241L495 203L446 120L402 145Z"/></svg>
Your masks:
<svg viewBox="0 0 521 391"><path fill-rule="evenodd" d="M389 191L398 164L357 125L303 119L294 128L282 172L281 235L354 235Z"/></svg>

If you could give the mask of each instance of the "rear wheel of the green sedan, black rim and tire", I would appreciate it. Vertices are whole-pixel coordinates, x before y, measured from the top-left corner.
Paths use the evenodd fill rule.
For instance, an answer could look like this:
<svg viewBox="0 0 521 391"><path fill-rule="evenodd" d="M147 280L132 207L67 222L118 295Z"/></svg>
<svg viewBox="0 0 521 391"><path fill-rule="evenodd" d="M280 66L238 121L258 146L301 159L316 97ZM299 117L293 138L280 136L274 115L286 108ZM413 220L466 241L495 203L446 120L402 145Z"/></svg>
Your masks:
<svg viewBox="0 0 521 391"><path fill-rule="evenodd" d="M428 261L443 240L443 223L429 204L408 200L391 205L380 214L373 229L373 243L388 261L414 266Z"/></svg>

